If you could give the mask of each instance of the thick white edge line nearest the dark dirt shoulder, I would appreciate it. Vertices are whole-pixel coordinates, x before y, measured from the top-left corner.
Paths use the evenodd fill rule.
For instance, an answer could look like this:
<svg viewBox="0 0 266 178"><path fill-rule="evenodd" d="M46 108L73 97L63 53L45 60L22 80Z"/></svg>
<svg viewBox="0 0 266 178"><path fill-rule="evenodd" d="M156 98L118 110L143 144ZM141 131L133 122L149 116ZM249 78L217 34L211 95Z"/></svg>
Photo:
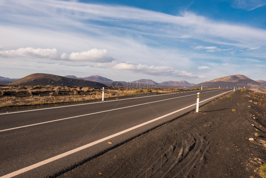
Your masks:
<svg viewBox="0 0 266 178"><path fill-rule="evenodd" d="M231 91L232 91L232 90L231 90ZM225 92L225 93L228 93L228 92L230 92L230 91L227 91L227 92ZM222 94L217 95L217 96L224 95L225 93L222 93ZM217 97L217 96L213 96L213 97L211 97L211 98L208 98L207 100L210 100L210 99L215 98L215 97ZM204 101L207 101L207 100L204 100ZM201 101L201 102L204 102L204 101ZM201 103L201 102L200 102L200 103ZM17 175L22 174L22 173L24 173L24 172L26 172L26 171L32 170L32 169L34 169L34 168L36 168L36 167L40 167L40 166L45 165L45 164L47 164L47 163L49 163L49 162L53 162L53 161L55 161L55 160L57 160L57 159L60 159L60 158L63 158L63 157L65 157L65 156L68 156L68 155L70 155L70 154L76 153L76 152L78 152L78 151L80 151L80 150L86 149L86 148L88 148L88 147L91 147L91 146L93 146L93 145L96 145L96 144L98 144L98 143L101 143L101 142L103 142L103 141L105 141L105 140L109 140L109 139L111 139L111 138L114 138L114 137L116 137L116 136L119 136L119 135L121 135L121 134L124 134L124 133L126 133L126 132L128 132L128 131L132 131L132 130L134 130L134 129L136 129L136 128L142 127L142 126L147 125L147 124L149 124L149 123L151 123L151 122L157 121L157 120L159 120L159 119L161 119L161 118L165 118L165 117L167 117L167 116L169 116L169 115L171 115L171 114L177 113L177 112L179 112L179 111L182 111L182 110L187 109L187 108L189 108L189 107L191 107L191 106L194 106L194 105L196 105L196 103L193 104L193 105L187 106L187 107L185 107L185 108L182 108L182 109L176 110L176 111L174 111L174 112L172 112L172 113L168 113L168 114L165 114L165 115L163 115L163 116L161 116L161 117L158 117L158 118L152 119L152 120L150 120L150 121L148 121L148 122L144 122L144 123L139 124L139 125L137 125L137 126L134 126L134 127L128 128L128 129L126 129L126 130L123 130L123 131L121 131L121 132L115 133L115 134L113 134L113 135L107 136L107 137L102 138L102 139L100 139L100 140L96 140L96 141L94 141L94 142L92 142L92 143L89 143L89 144L87 144L87 145L83 145L83 146L78 147L78 148L76 148L76 149L72 149L72 150L70 150L70 151L67 151L67 152L65 152L65 153L59 154L59 155L54 156L54 157L52 157L52 158L46 159L46 160L44 160L44 161L38 162L38 163L33 164L33 165L31 165L31 166L24 167L24 168L22 168L22 169L19 169L18 171L14 171L14 172L11 172L11 173L9 173L9 174L6 174L5 176L2 176L2 177L0 177L0 178L10 178L10 177L13 177L13 176L17 176Z"/></svg>

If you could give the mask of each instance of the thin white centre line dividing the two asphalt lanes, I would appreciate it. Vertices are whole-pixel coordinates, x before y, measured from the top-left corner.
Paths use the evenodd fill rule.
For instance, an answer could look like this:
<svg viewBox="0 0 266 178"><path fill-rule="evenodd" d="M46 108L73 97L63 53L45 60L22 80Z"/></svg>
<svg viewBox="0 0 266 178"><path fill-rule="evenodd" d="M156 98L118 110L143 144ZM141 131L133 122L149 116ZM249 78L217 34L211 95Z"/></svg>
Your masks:
<svg viewBox="0 0 266 178"><path fill-rule="evenodd" d="M196 95L196 94L191 94L191 95L186 95L186 96L192 96L192 95ZM36 126L36 125L45 124L45 123L49 123L49 122L56 122L56 121L62 121L62 120L66 120L66 119L78 118L78 117L88 116L88 115L92 115L92 114L104 113L104 112L114 111L114 110L118 110L118 109L125 109L125 108L140 106L140 105L147 105L147 104L151 104L151 103L156 103L156 102L166 101L166 100L172 100L172 99L182 98L182 97L186 97L186 96L178 96L178 97L175 97L175 98L169 98L169 99L165 99L165 100L158 100L158 101L153 101L153 102L149 102L149 103L143 103L143 104L139 104L139 105L127 106L127 107L117 108L117 109L109 109L109 110L100 111L100 112L96 112L96 113L89 113L89 114L73 116L73 117L69 117L69 118L62 118L62 119L57 119L57 120L52 120L52 121L47 121L47 122L40 122L40 123L36 123L36 124L30 124L30 125L26 125L26 126L14 127L14 128L0 130L0 132L8 131L8 130L14 130L14 129L23 128L23 127Z"/></svg>

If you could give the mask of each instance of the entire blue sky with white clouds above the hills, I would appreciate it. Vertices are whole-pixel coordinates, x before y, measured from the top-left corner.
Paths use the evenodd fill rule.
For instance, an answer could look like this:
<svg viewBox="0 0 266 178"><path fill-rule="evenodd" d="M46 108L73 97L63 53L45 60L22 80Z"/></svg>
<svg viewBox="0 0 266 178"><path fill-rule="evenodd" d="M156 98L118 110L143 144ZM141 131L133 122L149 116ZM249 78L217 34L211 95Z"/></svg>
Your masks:
<svg viewBox="0 0 266 178"><path fill-rule="evenodd" d="M0 76L266 80L266 1L0 0Z"/></svg>

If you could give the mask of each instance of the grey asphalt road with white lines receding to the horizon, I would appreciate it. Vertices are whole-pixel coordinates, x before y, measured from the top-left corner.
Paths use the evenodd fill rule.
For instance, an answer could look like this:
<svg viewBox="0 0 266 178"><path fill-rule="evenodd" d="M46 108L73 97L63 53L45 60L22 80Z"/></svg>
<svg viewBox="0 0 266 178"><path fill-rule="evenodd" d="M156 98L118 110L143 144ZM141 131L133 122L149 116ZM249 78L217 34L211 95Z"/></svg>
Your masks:
<svg viewBox="0 0 266 178"><path fill-rule="evenodd" d="M176 92L124 100L0 113L0 176L48 177L232 89Z"/></svg>

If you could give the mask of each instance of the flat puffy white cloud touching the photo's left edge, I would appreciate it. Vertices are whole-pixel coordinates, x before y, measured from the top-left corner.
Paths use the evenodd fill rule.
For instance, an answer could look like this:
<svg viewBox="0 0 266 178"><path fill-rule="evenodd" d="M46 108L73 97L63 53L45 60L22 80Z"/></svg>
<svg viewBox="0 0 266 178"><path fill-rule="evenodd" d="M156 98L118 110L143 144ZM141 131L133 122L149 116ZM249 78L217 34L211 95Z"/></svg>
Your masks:
<svg viewBox="0 0 266 178"><path fill-rule="evenodd" d="M4 57L39 57L48 58L54 57L57 53L57 49L41 49L41 48L19 48L16 50L0 51L0 55Z"/></svg>

